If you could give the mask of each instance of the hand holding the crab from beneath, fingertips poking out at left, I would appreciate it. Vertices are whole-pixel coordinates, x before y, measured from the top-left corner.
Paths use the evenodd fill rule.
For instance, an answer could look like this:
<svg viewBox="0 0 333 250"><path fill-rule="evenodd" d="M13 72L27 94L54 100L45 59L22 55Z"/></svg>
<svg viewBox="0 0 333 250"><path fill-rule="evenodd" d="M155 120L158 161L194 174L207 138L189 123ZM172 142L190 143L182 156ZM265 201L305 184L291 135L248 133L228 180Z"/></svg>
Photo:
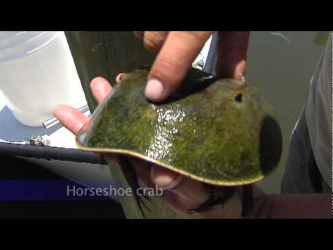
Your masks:
<svg viewBox="0 0 333 250"><path fill-rule="evenodd" d="M117 76L116 81L119 82L123 74ZM94 78L90 84L92 93L97 101L101 102L108 96L112 87L104 78ZM55 110L56 117L62 124L72 133L76 134L88 121L89 117L85 117L75 108L61 105ZM117 161L113 155L105 155L108 162ZM203 183L194 181L191 178L179 175L169 169L164 169L157 165L151 166L144 160L129 157L130 163L135 168L139 181L149 188L155 186L164 190L161 199L166 201L173 210L191 218L238 218L241 217L241 195L236 192L232 199L221 207L207 210L203 213L190 215L187 211L197 208L201 203L205 202L210 194L204 188Z"/></svg>

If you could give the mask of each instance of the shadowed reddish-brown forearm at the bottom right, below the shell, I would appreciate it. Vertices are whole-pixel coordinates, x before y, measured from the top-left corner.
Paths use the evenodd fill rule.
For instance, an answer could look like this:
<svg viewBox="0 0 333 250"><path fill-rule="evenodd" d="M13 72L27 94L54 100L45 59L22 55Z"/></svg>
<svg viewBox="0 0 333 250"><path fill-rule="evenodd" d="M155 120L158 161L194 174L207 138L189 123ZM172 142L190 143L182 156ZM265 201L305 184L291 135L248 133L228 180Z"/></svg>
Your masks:
<svg viewBox="0 0 333 250"><path fill-rule="evenodd" d="M251 218L332 218L332 194L264 194Z"/></svg>

